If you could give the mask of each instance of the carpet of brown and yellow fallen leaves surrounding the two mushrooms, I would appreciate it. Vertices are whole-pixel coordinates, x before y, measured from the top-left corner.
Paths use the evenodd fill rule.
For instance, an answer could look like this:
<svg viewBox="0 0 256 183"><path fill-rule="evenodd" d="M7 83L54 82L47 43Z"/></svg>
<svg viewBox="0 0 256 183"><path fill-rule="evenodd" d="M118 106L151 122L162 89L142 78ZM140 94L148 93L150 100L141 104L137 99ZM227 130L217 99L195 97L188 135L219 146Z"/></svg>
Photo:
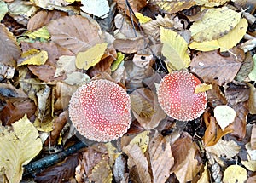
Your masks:
<svg viewBox="0 0 256 183"><path fill-rule="evenodd" d="M253 0L0 0L0 182L255 182L255 9ZM189 122L158 103L161 78L180 70L207 92ZM68 123L73 92L94 79L130 95L119 140L84 140ZM23 174L80 140L87 147L61 163Z"/></svg>

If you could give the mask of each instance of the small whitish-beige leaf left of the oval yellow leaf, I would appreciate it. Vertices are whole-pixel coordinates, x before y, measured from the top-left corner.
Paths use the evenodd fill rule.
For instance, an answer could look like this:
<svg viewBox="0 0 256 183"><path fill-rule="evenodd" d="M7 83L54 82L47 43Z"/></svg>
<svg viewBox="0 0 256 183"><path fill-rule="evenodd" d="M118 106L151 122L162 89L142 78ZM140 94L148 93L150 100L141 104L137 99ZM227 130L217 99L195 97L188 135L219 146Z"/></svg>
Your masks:
<svg viewBox="0 0 256 183"><path fill-rule="evenodd" d="M57 68L55 71L55 76L54 77L60 77L63 74L71 73L72 71L76 70L76 65L75 65L75 56L67 56L63 55L60 56L59 60L57 61Z"/></svg>

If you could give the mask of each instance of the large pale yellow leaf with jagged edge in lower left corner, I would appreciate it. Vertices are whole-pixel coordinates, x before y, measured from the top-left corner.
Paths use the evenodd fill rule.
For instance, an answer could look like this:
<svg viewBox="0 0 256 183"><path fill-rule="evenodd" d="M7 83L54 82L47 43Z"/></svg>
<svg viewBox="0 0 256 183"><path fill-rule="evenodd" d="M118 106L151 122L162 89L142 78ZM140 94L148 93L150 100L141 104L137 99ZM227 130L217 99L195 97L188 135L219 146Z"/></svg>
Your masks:
<svg viewBox="0 0 256 183"><path fill-rule="evenodd" d="M18 183L23 165L29 163L42 149L38 130L26 115L12 124L12 128L0 127L0 169L4 169L9 182Z"/></svg>

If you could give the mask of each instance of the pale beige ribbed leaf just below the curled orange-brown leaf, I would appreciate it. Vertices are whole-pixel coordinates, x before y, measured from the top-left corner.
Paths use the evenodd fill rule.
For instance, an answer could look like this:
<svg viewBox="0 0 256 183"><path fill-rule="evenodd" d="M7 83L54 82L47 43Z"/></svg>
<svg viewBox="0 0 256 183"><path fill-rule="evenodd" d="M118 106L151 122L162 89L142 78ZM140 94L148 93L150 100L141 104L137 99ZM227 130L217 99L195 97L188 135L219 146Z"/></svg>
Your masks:
<svg viewBox="0 0 256 183"><path fill-rule="evenodd" d="M235 157L236 154L238 154L239 150L241 149L240 146L236 144L235 141L224 141L224 140L218 140L218 143L214 146L207 146L206 150L207 152L211 152L218 157L225 156L228 159L231 157Z"/></svg>

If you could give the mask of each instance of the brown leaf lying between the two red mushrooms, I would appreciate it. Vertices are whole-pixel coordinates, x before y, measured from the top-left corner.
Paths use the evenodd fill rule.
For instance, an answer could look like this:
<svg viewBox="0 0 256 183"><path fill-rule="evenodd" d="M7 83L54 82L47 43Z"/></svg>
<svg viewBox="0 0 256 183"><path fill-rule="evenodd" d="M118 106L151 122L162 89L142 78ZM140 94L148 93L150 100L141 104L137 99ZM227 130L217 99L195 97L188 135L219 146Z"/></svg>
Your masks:
<svg viewBox="0 0 256 183"><path fill-rule="evenodd" d="M166 117L158 103L157 95L151 90L136 89L130 97L133 115L144 129L154 129Z"/></svg>

